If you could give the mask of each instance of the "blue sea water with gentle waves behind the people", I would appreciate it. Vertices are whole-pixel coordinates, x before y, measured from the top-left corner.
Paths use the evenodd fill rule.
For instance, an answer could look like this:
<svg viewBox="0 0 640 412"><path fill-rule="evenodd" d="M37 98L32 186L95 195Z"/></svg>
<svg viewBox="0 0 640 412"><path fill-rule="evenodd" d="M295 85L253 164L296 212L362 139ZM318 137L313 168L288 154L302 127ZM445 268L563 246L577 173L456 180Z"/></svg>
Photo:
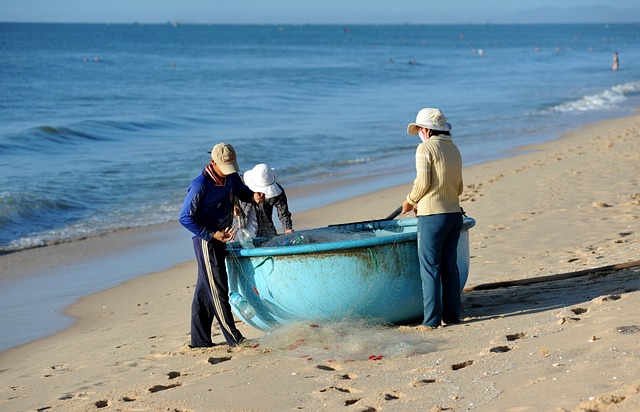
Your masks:
<svg viewBox="0 0 640 412"><path fill-rule="evenodd" d="M0 61L0 259L175 221L220 141L235 146L242 170L277 168L287 189L345 185L291 199L295 220L410 182L419 140L406 126L423 107L447 115L469 165L640 106L638 24L0 23ZM51 303L53 316L123 280L87 276L88 266L71 272L90 286L47 274L48 285L74 285L63 292L0 274L2 312L15 314L0 324L0 350L64 326L39 307L24 315L25 294Z"/></svg>

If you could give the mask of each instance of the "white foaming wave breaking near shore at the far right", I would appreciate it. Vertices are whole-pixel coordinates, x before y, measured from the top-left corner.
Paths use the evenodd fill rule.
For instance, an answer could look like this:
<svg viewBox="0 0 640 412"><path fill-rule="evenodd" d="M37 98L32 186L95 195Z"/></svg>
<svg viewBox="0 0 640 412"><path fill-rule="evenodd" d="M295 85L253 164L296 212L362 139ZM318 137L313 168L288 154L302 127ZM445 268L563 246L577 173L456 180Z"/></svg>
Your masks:
<svg viewBox="0 0 640 412"><path fill-rule="evenodd" d="M610 87L600 93L590 94L577 100L555 105L547 111L571 113L612 109L626 102L629 97L637 95L640 95L640 82L629 82Z"/></svg>

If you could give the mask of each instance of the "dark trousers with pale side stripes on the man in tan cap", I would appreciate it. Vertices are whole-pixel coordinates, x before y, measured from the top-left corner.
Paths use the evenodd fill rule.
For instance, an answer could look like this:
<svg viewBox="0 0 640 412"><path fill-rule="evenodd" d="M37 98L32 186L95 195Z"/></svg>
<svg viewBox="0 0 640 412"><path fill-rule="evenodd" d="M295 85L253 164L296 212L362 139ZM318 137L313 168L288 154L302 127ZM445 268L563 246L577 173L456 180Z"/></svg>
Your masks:
<svg viewBox="0 0 640 412"><path fill-rule="evenodd" d="M193 238L193 250L198 262L198 280L191 304L191 346L210 347L214 318L229 346L236 346L244 337L235 326L229 305L229 284L224 265L226 245L201 237Z"/></svg>

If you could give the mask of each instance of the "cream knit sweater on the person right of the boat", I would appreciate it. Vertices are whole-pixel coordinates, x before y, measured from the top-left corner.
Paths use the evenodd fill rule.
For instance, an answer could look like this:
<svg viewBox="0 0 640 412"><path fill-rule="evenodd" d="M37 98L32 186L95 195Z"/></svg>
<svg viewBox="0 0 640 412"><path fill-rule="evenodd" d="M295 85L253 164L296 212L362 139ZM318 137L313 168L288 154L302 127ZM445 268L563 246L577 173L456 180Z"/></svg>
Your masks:
<svg viewBox="0 0 640 412"><path fill-rule="evenodd" d="M450 136L431 136L416 149L416 180L407 201L418 216L460 212L462 157Z"/></svg>

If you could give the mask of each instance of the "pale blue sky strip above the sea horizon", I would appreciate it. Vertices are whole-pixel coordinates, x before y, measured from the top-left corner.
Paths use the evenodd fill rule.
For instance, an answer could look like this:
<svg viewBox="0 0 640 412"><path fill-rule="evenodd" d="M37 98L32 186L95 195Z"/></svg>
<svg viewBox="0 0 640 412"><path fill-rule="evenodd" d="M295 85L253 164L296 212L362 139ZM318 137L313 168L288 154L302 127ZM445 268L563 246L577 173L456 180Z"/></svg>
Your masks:
<svg viewBox="0 0 640 412"><path fill-rule="evenodd" d="M596 9L594 6L605 8ZM252 24L640 22L640 4L638 0L0 0L0 21Z"/></svg>

